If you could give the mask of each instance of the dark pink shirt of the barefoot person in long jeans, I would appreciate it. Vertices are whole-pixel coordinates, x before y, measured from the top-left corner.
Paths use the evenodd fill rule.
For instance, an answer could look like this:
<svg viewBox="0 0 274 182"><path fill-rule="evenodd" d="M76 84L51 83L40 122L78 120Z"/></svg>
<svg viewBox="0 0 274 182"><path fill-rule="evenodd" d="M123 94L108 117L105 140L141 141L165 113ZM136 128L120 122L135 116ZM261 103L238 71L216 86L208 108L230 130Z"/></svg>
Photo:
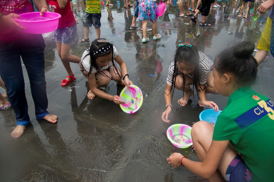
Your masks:
<svg viewBox="0 0 274 182"><path fill-rule="evenodd" d="M28 0L1 0L0 13L9 15L11 13L23 14L33 12L33 8ZM0 23L0 40L14 40L22 30L9 28Z"/></svg>

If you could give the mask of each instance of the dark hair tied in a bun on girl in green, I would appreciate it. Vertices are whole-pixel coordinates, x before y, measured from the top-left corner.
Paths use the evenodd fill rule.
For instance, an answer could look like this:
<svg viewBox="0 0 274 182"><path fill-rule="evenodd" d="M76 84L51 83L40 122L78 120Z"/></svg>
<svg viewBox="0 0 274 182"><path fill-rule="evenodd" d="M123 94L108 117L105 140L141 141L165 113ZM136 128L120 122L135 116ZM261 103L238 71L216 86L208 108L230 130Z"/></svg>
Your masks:
<svg viewBox="0 0 274 182"><path fill-rule="evenodd" d="M255 46L250 41L243 41L222 51L214 61L214 68L219 74L232 73L236 76L237 86L251 85L256 80L258 63L252 53Z"/></svg>

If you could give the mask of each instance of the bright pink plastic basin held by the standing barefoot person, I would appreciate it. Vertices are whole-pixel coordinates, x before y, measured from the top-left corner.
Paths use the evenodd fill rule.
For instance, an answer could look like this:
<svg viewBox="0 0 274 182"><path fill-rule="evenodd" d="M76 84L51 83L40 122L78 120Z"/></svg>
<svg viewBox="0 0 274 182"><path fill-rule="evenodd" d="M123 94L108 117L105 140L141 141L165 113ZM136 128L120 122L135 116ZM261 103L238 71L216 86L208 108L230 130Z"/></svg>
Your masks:
<svg viewBox="0 0 274 182"><path fill-rule="evenodd" d="M48 33L57 29L59 18L61 15L53 12L45 12L40 16L40 12L24 13L20 15L20 19L15 20L25 27L27 33L40 34Z"/></svg>

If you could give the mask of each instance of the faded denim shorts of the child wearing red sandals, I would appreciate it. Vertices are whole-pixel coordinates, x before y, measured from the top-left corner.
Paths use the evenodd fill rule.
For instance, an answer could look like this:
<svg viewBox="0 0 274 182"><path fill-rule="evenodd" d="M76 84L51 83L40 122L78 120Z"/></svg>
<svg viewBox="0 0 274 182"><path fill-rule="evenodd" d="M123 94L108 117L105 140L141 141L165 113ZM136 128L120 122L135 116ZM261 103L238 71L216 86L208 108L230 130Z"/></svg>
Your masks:
<svg viewBox="0 0 274 182"><path fill-rule="evenodd" d="M57 28L54 31L54 39L62 44L72 44L77 41L77 26L76 23L71 27Z"/></svg>

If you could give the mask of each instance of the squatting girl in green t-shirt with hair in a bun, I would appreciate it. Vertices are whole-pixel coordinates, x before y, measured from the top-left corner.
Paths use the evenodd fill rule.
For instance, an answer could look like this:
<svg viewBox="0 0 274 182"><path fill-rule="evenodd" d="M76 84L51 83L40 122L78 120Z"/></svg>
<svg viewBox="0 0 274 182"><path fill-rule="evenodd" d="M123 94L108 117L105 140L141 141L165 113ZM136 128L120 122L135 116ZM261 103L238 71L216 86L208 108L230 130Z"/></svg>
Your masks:
<svg viewBox="0 0 274 182"><path fill-rule="evenodd" d="M253 43L244 41L215 58L214 84L221 95L230 97L227 106L215 126L199 121L192 127L193 145L201 162L173 153L168 164L183 165L210 181L273 180L274 147L269 141L274 140L274 103L250 87L258 67L252 56L254 48Z"/></svg>

